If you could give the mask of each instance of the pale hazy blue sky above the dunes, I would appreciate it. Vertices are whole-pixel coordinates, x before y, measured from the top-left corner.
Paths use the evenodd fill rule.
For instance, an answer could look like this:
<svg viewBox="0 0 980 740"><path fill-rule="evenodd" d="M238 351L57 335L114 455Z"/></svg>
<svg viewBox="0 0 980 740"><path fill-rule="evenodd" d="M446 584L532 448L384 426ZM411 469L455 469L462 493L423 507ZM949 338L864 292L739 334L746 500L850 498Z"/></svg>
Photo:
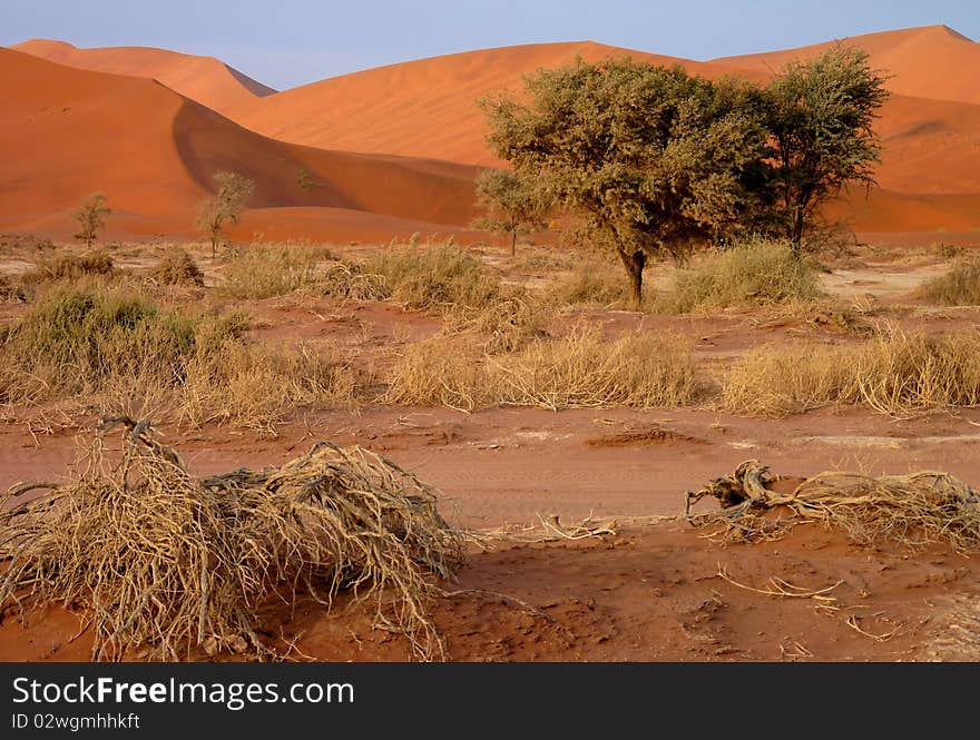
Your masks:
<svg viewBox="0 0 980 740"><path fill-rule="evenodd" d="M517 43L588 39L706 60L938 23L980 40L980 0L0 0L0 46L161 47L277 89Z"/></svg>

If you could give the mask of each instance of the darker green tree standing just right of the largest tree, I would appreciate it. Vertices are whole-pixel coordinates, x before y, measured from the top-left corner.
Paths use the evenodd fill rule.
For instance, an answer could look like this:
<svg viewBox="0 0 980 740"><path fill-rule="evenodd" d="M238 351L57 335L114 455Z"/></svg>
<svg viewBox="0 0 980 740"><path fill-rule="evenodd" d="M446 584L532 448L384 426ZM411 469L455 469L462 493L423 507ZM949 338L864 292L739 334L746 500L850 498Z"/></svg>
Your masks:
<svg viewBox="0 0 980 740"><path fill-rule="evenodd" d="M875 185L881 144L872 125L889 92L868 62L862 49L834 45L786 65L766 90L775 220L796 254L816 211L844 185Z"/></svg>

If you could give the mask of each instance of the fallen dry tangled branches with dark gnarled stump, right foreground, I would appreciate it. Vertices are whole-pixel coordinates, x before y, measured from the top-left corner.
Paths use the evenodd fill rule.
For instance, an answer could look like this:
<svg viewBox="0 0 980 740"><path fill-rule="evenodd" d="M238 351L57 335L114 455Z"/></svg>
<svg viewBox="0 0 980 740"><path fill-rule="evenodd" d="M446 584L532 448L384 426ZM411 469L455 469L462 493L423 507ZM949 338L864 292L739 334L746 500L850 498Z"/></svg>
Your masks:
<svg viewBox="0 0 980 740"><path fill-rule="evenodd" d="M722 509L693 517L698 525L721 524L727 540L774 540L796 524L822 522L841 527L856 542L883 540L910 546L945 542L957 552L980 550L980 495L949 473L871 477L857 473L814 475L790 494L774 491L780 480L758 461L687 494L687 510L704 496Z"/></svg>

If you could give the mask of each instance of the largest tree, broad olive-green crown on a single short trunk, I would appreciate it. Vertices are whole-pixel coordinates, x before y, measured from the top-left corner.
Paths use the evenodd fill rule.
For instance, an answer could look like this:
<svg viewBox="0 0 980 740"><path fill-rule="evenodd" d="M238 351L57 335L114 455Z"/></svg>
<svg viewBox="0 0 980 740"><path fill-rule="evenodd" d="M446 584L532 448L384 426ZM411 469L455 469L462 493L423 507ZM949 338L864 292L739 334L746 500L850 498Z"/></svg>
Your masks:
<svg viewBox="0 0 980 740"><path fill-rule="evenodd" d="M639 303L648 256L686 254L753 207L766 137L751 100L680 67L579 59L480 105L497 156L577 217L574 238L618 255Z"/></svg>

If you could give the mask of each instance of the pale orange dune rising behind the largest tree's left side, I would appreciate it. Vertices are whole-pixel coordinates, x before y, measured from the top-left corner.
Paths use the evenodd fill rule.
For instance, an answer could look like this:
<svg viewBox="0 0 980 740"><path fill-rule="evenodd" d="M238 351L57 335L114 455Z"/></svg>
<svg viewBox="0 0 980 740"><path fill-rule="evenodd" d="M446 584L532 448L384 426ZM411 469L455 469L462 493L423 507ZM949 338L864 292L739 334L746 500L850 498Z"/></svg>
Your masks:
<svg viewBox="0 0 980 740"><path fill-rule="evenodd" d="M313 147L496 165L487 150L484 116L476 100L518 88L539 67L630 56L683 63L718 77L721 65L608 47L594 41L537 43L420 59L369 69L254 99L232 118L276 139Z"/></svg>

